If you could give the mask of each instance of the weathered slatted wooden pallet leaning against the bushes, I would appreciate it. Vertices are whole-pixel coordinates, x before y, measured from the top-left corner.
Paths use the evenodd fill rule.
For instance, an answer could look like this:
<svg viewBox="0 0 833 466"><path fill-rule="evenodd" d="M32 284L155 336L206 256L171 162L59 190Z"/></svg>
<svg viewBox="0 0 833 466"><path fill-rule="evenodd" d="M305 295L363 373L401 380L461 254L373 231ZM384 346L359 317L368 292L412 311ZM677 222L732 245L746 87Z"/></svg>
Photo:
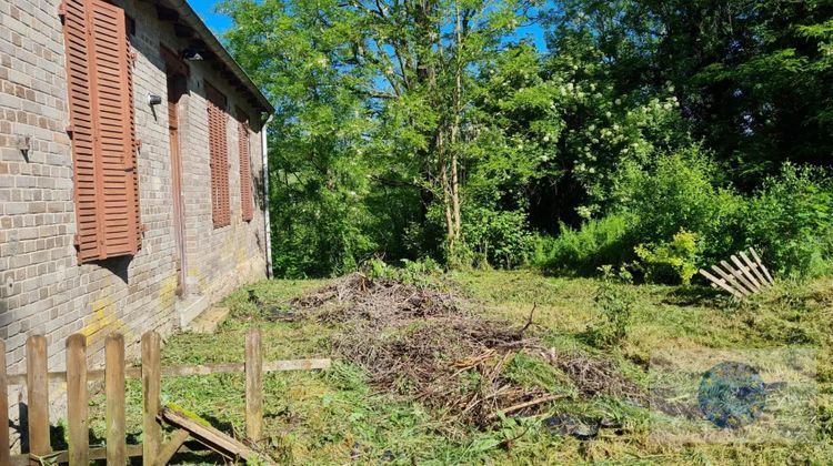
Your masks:
<svg viewBox="0 0 833 466"><path fill-rule="evenodd" d="M709 280L713 288L723 290L739 298L757 293L775 282L755 250L750 247L749 253L752 260L742 251L730 257L732 264L721 261L720 264L712 265L714 274L705 269L701 269L700 274Z"/></svg>

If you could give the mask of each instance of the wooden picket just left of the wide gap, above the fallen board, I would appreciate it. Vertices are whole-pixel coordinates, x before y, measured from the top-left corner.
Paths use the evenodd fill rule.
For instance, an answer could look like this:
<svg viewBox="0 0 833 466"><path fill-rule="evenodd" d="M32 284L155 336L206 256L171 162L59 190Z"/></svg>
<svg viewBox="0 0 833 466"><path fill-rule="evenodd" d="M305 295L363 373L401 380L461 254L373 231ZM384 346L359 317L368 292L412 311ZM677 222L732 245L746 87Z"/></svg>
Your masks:
<svg viewBox="0 0 833 466"><path fill-rule="evenodd" d="M161 408L160 337L157 332L142 335L142 464L155 464L162 444L157 422Z"/></svg>

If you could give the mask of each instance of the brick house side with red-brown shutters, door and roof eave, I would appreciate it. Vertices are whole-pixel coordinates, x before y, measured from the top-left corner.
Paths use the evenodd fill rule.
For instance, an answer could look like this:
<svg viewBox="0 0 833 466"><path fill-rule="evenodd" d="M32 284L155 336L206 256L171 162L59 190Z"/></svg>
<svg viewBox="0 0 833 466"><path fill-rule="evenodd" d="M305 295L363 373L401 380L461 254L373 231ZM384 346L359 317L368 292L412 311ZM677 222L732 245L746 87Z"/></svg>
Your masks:
<svg viewBox="0 0 833 466"><path fill-rule="evenodd" d="M0 2L0 337L129 344L267 276L272 107L185 0Z"/></svg>

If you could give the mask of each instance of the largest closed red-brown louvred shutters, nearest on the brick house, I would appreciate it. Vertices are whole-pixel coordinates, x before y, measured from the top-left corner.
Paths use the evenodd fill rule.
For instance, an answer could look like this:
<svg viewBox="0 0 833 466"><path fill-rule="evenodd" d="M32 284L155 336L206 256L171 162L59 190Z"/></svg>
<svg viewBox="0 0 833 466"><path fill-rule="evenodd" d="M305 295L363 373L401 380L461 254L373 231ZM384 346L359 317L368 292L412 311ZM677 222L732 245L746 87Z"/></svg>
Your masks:
<svg viewBox="0 0 833 466"><path fill-rule="evenodd" d="M124 11L102 0L66 0L61 10L78 260L133 255L141 226Z"/></svg>

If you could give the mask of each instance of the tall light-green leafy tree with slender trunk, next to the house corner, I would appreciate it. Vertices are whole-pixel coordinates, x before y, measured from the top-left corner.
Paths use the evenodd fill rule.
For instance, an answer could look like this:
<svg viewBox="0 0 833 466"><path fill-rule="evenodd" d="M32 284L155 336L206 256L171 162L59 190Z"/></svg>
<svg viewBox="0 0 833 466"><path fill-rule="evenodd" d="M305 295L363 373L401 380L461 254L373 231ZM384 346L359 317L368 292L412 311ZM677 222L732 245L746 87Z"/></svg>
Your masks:
<svg viewBox="0 0 833 466"><path fill-rule="evenodd" d="M456 262L475 73L529 8L521 0L222 3L235 24L232 52L278 102L273 176L283 199L272 202L344 190L365 206L383 191L419 199L418 210L388 212L387 221L401 233L424 225L439 205L442 249ZM284 226L298 227L291 219ZM383 236L370 234L377 246Z"/></svg>

